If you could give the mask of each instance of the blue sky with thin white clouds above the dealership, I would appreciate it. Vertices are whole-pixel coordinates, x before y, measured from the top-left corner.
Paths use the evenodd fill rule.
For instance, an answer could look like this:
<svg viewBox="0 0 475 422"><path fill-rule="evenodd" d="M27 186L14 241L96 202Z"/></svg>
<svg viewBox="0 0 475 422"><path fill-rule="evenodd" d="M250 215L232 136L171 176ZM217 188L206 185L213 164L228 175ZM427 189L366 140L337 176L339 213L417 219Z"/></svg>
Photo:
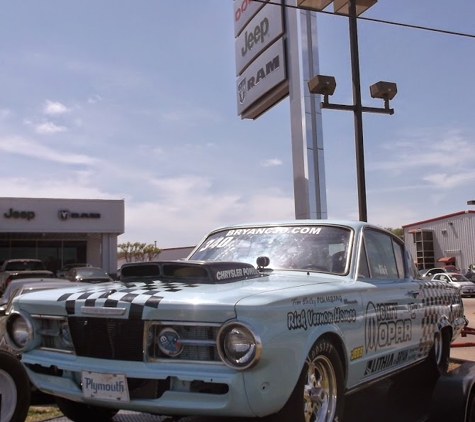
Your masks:
<svg viewBox="0 0 475 422"><path fill-rule="evenodd" d="M237 0L238 1L238 0ZM450 6L450 7L449 7ZM475 2L379 0L358 21L368 221L475 199ZM348 19L319 14L320 73L351 104ZM0 14L0 192L124 199L122 242L192 246L217 227L294 219L289 100L237 114L233 0L19 0ZM327 211L358 219L353 113L322 110Z"/></svg>

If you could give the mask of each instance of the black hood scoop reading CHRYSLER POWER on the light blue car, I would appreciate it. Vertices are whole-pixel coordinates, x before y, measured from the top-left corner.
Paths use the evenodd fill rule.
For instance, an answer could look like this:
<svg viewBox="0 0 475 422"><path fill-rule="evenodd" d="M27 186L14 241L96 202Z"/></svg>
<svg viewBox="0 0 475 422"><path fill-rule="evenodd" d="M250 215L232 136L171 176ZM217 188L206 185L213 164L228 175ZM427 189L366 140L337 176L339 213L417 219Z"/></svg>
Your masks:
<svg viewBox="0 0 475 422"><path fill-rule="evenodd" d="M153 271L153 274L150 273ZM193 284L223 284L259 278L251 264L243 262L156 261L125 265L121 281L177 281Z"/></svg>

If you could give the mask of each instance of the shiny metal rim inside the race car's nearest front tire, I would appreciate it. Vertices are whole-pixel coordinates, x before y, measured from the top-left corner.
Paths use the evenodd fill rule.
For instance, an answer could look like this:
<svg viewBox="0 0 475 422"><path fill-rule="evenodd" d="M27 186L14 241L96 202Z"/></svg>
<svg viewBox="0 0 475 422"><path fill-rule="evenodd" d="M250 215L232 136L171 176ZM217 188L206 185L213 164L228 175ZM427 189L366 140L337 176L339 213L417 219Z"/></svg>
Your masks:
<svg viewBox="0 0 475 422"><path fill-rule="evenodd" d="M307 362L303 389L305 422L332 421L336 412L338 383L333 365L326 356Z"/></svg>

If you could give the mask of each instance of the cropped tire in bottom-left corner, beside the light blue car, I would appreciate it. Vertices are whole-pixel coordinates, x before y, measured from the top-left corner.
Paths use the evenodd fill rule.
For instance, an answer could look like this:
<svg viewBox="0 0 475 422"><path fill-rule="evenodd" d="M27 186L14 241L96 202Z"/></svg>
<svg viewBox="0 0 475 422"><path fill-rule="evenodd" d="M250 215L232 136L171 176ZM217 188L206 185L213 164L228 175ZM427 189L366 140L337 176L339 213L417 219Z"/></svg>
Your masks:
<svg viewBox="0 0 475 422"><path fill-rule="evenodd" d="M30 381L20 360L0 351L0 422L24 422L30 408Z"/></svg>

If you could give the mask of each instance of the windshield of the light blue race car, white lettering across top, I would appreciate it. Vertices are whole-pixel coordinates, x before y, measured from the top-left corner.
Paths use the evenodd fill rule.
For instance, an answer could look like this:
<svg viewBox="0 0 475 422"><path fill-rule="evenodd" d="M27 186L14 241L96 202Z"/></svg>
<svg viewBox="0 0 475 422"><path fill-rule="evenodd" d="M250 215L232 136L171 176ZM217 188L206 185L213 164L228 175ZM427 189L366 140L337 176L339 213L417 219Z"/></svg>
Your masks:
<svg viewBox="0 0 475 422"><path fill-rule="evenodd" d="M342 274L347 268L352 231L340 226L275 226L213 233L189 259L238 261L255 265L268 257L272 269L309 269Z"/></svg>

